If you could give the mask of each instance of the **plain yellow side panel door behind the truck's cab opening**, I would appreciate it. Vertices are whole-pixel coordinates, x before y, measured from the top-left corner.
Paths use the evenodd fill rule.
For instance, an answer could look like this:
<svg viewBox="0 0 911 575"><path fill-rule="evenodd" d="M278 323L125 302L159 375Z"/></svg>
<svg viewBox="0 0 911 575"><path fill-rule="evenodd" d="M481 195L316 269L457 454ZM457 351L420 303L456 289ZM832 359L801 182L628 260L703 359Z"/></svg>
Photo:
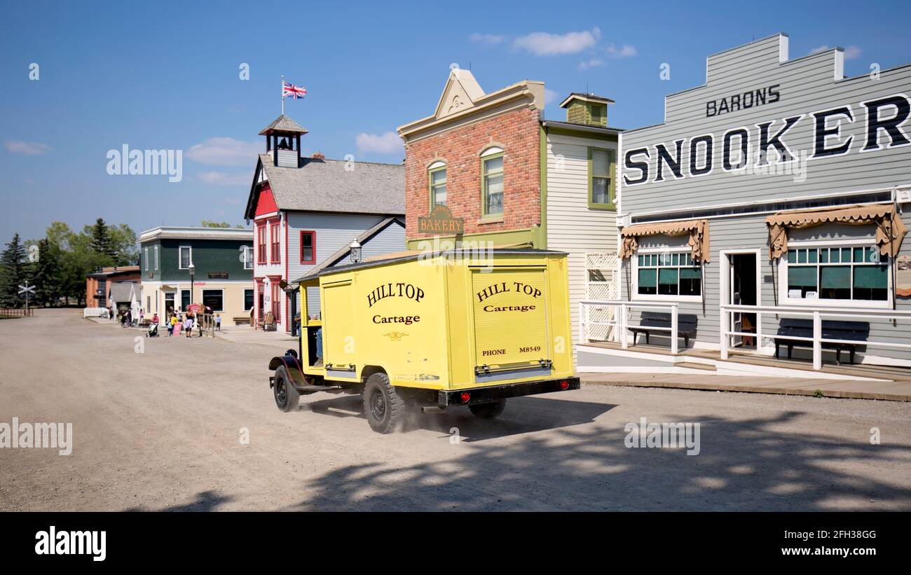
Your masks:
<svg viewBox="0 0 911 575"><path fill-rule="evenodd" d="M356 378L350 281L322 287L322 363L327 378Z"/></svg>

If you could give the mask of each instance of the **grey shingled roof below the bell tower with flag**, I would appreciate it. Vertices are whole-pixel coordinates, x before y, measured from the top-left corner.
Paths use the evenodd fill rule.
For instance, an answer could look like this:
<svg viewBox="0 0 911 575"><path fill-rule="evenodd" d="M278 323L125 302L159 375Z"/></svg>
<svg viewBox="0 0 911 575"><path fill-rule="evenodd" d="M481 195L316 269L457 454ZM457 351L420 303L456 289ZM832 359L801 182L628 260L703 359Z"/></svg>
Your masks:
<svg viewBox="0 0 911 575"><path fill-rule="evenodd" d="M302 159L301 167L281 167L272 164L272 156L261 154L257 171L260 169L269 180L279 209L404 215L401 164L349 163L308 157ZM257 190L254 183L245 214L247 219L252 219L255 213Z"/></svg>

